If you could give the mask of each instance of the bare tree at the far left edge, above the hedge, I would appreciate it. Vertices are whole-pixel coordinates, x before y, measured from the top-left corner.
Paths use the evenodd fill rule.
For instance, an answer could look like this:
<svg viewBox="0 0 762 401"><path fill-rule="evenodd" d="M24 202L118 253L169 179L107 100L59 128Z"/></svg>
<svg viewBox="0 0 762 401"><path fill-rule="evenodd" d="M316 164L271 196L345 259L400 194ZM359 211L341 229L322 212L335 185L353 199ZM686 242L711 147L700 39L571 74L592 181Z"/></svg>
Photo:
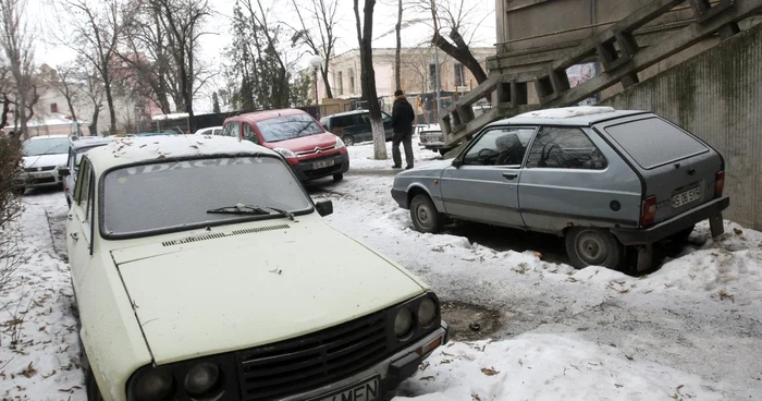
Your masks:
<svg viewBox="0 0 762 401"><path fill-rule="evenodd" d="M16 113L21 120L21 132L28 136L27 121L34 114L32 107L37 102L37 88L33 84L34 36L25 20L26 0L0 0L2 32L0 46L8 61L8 66L15 84ZM26 110L30 110L29 114Z"/></svg>

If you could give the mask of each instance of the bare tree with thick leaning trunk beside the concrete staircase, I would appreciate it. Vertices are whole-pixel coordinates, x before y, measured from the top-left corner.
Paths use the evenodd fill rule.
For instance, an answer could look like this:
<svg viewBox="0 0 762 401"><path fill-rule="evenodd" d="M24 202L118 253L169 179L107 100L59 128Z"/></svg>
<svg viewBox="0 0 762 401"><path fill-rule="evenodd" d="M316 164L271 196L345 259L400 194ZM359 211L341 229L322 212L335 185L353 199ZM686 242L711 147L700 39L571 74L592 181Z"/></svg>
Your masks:
<svg viewBox="0 0 762 401"><path fill-rule="evenodd" d="M469 0L419 0L419 5L431 13L434 34L431 42L444 51L447 56L465 65L481 84L487 81L487 73L479 61L471 53L468 45L470 40L464 37L468 31L468 21L474 17L475 10L482 5ZM487 16L484 16L487 17ZM448 29L447 38L442 36L442 31Z"/></svg>

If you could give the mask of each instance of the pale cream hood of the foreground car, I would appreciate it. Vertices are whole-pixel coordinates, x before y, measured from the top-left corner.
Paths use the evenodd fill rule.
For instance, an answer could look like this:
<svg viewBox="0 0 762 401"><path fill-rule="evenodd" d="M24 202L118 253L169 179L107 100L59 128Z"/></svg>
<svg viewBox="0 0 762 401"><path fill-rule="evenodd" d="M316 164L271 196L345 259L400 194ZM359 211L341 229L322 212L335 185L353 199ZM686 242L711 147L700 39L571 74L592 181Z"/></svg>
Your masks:
<svg viewBox="0 0 762 401"><path fill-rule="evenodd" d="M322 220L285 222L112 251L156 363L295 338L426 291Z"/></svg>

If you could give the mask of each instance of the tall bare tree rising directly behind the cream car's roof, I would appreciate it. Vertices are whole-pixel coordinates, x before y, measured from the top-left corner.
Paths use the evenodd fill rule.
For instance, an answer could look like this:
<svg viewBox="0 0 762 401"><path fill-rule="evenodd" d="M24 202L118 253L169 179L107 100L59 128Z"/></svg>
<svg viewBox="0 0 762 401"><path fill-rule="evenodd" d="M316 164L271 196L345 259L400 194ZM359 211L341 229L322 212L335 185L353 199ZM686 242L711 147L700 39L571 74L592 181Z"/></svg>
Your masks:
<svg viewBox="0 0 762 401"><path fill-rule="evenodd" d="M211 13L208 0L150 0L160 14L168 34L168 50L177 68L177 82L182 95L182 108L188 113L190 131L195 131L193 98L196 94L198 68L196 62L199 38L207 16ZM175 105L181 109L181 105Z"/></svg>

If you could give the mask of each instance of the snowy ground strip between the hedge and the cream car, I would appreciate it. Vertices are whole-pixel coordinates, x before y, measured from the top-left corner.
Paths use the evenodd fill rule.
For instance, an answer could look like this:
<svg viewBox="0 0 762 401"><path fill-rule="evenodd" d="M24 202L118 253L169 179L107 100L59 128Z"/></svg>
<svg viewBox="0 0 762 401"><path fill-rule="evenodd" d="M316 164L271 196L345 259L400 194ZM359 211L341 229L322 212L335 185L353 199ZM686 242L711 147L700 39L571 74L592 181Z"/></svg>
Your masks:
<svg viewBox="0 0 762 401"><path fill-rule="evenodd" d="M53 215L65 216L65 203L60 193L40 204L29 198L20 221L22 252L29 259L0 294L4 315L0 319L0 396L83 400L71 278L65 262L56 254L49 227Z"/></svg>

